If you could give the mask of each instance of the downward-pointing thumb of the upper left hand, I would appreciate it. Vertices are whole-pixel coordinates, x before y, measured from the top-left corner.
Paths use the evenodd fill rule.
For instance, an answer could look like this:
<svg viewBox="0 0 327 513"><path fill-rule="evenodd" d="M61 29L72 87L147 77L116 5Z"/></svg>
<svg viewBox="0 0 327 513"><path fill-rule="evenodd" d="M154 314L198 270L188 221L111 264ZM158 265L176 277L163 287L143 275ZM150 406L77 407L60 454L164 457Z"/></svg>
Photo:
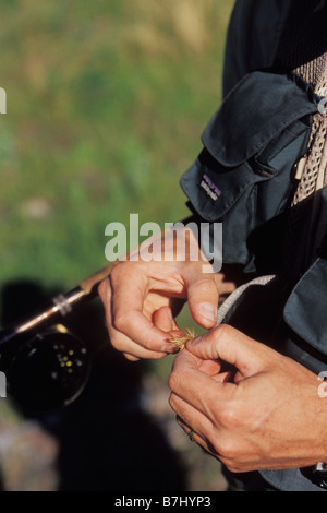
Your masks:
<svg viewBox="0 0 327 513"><path fill-rule="evenodd" d="M191 314L201 326L215 326L218 314L219 291L214 274L192 273L186 276L187 300Z"/></svg>

